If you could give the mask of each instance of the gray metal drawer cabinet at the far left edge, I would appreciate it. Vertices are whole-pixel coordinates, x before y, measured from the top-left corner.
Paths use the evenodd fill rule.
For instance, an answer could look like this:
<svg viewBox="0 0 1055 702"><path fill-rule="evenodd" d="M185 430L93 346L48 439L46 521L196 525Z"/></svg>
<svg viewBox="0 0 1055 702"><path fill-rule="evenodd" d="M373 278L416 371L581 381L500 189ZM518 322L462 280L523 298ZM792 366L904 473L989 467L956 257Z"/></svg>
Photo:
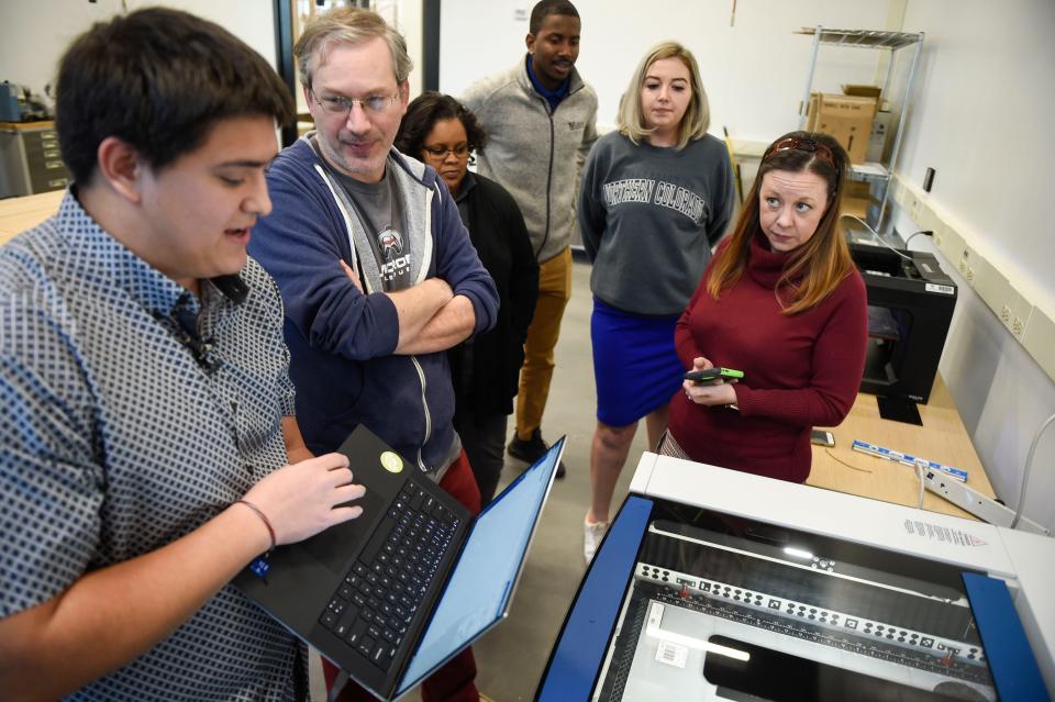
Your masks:
<svg viewBox="0 0 1055 702"><path fill-rule="evenodd" d="M70 180L54 122L0 123L0 198L60 190Z"/></svg>

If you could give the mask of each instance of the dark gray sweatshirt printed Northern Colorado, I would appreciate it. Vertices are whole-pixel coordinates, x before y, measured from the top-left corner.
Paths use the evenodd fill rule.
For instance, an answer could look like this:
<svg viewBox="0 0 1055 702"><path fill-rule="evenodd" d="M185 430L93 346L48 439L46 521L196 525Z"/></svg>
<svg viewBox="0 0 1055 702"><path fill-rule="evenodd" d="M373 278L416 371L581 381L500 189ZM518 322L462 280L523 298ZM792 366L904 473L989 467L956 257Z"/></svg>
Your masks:
<svg viewBox="0 0 1055 702"><path fill-rule="evenodd" d="M593 294L624 312L679 314L725 233L733 193L729 151L710 134L680 151L602 136L578 204Z"/></svg>

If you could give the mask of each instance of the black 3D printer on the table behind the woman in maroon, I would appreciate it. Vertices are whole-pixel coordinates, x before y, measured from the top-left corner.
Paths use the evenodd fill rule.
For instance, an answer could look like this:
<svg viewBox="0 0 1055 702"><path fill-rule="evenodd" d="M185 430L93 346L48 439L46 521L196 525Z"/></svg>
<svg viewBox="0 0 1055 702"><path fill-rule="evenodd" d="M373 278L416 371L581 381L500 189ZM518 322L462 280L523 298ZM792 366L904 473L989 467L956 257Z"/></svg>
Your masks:
<svg viewBox="0 0 1055 702"><path fill-rule="evenodd" d="M933 254L856 242L849 253L868 290L860 391L926 404L956 307L956 283Z"/></svg>

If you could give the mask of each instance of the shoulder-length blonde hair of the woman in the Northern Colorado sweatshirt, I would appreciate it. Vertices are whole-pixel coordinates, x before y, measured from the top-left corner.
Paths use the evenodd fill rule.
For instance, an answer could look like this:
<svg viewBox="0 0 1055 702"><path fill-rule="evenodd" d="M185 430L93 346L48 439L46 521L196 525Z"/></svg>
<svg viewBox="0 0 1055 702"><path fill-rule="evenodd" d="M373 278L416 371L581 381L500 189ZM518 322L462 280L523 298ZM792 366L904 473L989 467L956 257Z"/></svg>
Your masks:
<svg viewBox="0 0 1055 702"><path fill-rule="evenodd" d="M707 101L707 92L703 90L700 67L696 63L696 57L692 56L692 52L677 42L663 42L653 46L637 64L637 68L630 79L630 86L626 88L623 99L620 100L617 124L620 133L634 144L641 144L655 131L645 126L645 119L641 111L641 88L645 85L645 76L652 65L664 58L678 58L689 69L692 99L689 101L689 107L686 108L681 123L678 125L677 144L677 148L685 148L685 145L692 140L707 134L707 127L711 124L711 107Z"/></svg>

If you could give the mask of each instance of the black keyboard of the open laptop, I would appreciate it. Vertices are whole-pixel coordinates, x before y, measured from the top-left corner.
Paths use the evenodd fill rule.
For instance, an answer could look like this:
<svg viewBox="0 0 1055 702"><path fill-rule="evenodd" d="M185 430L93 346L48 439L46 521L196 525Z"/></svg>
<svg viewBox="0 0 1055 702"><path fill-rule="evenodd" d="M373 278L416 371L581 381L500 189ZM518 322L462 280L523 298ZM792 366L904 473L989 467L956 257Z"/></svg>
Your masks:
<svg viewBox="0 0 1055 702"><path fill-rule="evenodd" d="M319 621L387 672L458 522L408 480Z"/></svg>

